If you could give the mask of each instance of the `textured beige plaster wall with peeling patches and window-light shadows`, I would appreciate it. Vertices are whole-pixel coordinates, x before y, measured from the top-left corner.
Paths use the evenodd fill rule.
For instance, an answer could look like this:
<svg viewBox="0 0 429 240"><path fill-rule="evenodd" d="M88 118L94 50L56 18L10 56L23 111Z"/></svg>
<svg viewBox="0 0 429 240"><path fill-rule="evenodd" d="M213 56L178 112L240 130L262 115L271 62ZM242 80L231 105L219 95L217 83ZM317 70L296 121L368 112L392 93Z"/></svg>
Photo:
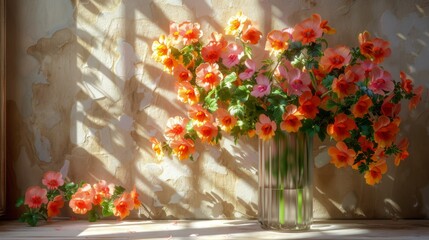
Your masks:
<svg viewBox="0 0 429 240"><path fill-rule="evenodd" d="M69 166L72 180L136 185L141 218L255 218L257 144L225 138L198 145L195 161L157 161L149 138L184 114L173 79L151 58L151 44L171 21L198 21L206 36L238 11L264 33L312 13L338 34L332 45L357 45L369 30L390 41L384 63L429 87L429 1L315 0L6 0L9 211L47 170ZM261 49L262 49L261 44ZM262 53L262 50L261 50ZM316 218L428 218L428 98L403 108L401 135L410 157L389 166L371 187L352 170L329 164L315 144Z"/></svg>

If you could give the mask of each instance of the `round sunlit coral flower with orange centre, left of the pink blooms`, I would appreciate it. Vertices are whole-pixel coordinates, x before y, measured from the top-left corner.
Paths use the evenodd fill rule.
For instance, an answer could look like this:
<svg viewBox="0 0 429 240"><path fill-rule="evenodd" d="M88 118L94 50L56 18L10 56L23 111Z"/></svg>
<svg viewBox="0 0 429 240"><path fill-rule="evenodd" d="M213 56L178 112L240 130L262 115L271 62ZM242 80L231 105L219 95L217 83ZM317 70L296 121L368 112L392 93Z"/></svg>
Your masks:
<svg viewBox="0 0 429 240"><path fill-rule="evenodd" d="M216 63L202 63L195 69L195 82L198 86L206 91L219 85L223 79L222 73L219 71L219 66Z"/></svg>

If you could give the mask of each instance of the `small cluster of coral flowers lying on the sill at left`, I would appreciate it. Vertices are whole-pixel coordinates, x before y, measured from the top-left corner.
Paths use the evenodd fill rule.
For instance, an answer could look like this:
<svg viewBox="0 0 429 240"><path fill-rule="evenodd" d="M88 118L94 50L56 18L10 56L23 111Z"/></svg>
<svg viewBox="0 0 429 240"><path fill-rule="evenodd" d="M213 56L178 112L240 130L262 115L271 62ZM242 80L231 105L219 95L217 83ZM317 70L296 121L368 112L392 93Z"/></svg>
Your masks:
<svg viewBox="0 0 429 240"><path fill-rule="evenodd" d="M93 185L76 184L65 182L60 172L48 171L42 184L46 188L31 186L16 203L17 207L25 207L19 221L30 226L36 226L39 220L58 216L66 201L74 213L87 214L90 222L109 216L122 220L141 205L135 187L131 192L125 192L123 187L107 184L104 180Z"/></svg>

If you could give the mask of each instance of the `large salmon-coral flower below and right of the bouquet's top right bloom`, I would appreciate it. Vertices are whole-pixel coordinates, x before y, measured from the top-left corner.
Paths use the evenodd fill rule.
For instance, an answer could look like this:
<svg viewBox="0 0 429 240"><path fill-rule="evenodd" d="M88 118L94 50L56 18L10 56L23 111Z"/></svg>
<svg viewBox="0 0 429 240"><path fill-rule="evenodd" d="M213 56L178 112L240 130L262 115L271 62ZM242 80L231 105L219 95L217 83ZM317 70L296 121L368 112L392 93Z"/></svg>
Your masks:
<svg viewBox="0 0 429 240"><path fill-rule="evenodd" d="M327 48L320 59L320 66L327 72L340 69L350 62L350 49L346 46Z"/></svg>

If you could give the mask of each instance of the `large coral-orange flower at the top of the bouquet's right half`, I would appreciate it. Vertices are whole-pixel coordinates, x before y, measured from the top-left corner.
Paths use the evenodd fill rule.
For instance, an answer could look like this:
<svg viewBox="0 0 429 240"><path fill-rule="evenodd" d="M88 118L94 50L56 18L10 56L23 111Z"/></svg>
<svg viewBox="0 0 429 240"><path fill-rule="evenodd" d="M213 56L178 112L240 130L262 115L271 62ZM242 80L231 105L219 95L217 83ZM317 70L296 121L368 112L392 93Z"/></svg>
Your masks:
<svg viewBox="0 0 429 240"><path fill-rule="evenodd" d="M323 34L321 28L322 18L319 14L313 14L310 18L295 25L293 32L294 41L300 41L303 44L316 42Z"/></svg>

